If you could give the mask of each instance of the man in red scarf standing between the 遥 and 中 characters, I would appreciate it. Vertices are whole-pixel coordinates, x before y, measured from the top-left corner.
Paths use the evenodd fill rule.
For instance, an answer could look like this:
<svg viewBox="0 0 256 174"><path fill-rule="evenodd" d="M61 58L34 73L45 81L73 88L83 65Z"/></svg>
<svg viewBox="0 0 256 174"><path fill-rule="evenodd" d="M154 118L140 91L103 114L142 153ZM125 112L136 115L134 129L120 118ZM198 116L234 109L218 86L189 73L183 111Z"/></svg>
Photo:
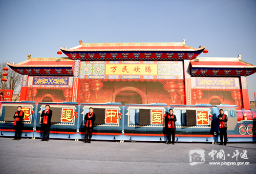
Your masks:
<svg viewBox="0 0 256 174"><path fill-rule="evenodd" d="M89 108L89 113L86 114L84 117L84 120L86 120L86 141L84 143L91 143L92 141L92 133L93 133L93 123L95 121L95 114L93 113L93 108ZM88 140L88 134L89 134L89 140Z"/></svg>

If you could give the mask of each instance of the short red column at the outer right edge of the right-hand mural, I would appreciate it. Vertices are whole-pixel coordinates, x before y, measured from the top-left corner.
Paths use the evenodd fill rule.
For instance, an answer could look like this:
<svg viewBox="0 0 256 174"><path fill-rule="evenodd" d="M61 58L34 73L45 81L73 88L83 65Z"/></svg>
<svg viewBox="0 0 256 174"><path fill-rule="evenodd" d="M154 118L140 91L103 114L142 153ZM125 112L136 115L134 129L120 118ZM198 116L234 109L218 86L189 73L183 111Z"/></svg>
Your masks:
<svg viewBox="0 0 256 174"><path fill-rule="evenodd" d="M250 110L250 101L249 101L249 93L247 86L247 77L240 77L241 84L241 93L242 93L242 102L245 110Z"/></svg>

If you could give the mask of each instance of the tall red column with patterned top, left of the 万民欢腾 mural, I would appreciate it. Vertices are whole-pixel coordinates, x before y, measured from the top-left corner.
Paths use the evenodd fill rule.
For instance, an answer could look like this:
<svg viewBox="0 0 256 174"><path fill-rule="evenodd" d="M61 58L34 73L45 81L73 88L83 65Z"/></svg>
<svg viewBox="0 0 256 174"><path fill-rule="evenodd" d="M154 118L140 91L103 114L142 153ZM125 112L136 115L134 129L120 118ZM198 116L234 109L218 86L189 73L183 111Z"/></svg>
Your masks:
<svg viewBox="0 0 256 174"><path fill-rule="evenodd" d="M78 94L79 94L79 74L80 74L80 60L75 60L74 64L74 78L73 78L73 93L72 100L73 102L78 102Z"/></svg>

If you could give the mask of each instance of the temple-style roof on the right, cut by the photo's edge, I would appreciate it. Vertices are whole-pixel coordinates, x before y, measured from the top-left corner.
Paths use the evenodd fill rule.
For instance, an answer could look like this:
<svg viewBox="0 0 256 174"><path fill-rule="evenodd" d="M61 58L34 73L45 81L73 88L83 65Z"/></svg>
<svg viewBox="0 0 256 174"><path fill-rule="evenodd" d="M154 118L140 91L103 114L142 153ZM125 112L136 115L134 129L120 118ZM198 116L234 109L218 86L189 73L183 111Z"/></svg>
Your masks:
<svg viewBox="0 0 256 174"><path fill-rule="evenodd" d="M248 76L256 72L256 66L238 57L197 57L190 60L192 76Z"/></svg>

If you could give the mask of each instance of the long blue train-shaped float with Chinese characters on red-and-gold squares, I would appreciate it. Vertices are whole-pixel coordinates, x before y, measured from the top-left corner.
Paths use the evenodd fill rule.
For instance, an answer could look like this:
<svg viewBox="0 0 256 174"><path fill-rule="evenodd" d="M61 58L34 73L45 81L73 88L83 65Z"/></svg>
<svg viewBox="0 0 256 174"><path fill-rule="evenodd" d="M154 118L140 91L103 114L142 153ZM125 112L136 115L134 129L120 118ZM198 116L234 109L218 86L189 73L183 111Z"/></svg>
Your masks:
<svg viewBox="0 0 256 174"><path fill-rule="evenodd" d="M256 110L237 111L237 105L167 105L165 103L47 103L34 101L0 102L1 137L14 136L13 115L17 106L25 112L23 138L42 136L40 114L49 104L53 111L50 138L84 139L84 116L94 108L93 140L167 141L163 115L173 109L177 117L176 142L216 142L219 126L217 116L223 109L228 116L228 142L256 141Z"/></svg>

